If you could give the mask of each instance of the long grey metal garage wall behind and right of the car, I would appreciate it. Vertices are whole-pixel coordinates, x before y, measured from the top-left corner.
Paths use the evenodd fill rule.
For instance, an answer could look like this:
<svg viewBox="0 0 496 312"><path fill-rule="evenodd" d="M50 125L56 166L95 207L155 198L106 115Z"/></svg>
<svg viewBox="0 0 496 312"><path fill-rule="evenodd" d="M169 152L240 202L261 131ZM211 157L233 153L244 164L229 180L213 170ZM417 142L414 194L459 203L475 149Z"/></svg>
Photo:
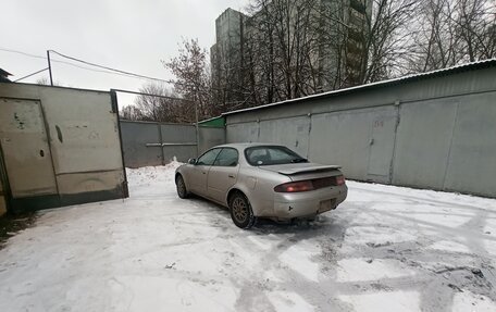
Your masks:
<svg viewBox="0 0 496 312"><path fill-rule="evenodd" d="M349 178L496 197L496 67L226 114L227 142L284 143Z"/></svg>

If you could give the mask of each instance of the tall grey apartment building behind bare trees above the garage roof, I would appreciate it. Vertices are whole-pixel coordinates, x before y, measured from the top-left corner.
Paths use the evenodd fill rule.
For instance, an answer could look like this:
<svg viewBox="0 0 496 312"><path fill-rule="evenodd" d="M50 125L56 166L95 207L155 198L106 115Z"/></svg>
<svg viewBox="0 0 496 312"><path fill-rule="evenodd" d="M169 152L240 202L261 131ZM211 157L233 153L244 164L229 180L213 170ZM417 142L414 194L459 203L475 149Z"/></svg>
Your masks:
<svg viewBox="0 0 496 312"><path fill-rule="evenodd" d="M218 102L243 108L360 84L371 10L371 0L273 0L251 16L227 9L211 48Z"/></svg>

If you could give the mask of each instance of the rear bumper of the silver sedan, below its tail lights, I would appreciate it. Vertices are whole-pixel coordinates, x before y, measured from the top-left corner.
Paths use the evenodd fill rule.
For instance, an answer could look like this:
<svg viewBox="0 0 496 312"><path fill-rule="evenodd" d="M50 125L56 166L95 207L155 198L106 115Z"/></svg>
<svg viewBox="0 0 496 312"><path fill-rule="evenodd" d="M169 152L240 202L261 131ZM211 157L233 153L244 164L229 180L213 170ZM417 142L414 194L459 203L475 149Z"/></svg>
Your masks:
<svg viewBox="0 0 496 312"><path fill-rule="evenodd" d="M274 217L312 217L336 209L348 195L346 185L305 192L277 192L274 197Z"/></svg>

